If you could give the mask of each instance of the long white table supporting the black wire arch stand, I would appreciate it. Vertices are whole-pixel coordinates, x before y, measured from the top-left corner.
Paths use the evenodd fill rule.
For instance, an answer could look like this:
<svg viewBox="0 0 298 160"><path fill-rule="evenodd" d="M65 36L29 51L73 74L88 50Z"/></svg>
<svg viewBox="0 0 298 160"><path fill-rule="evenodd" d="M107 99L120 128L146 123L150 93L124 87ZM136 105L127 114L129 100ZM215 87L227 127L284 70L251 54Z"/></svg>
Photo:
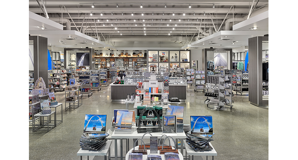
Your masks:
<svg viewBox="0 0 298 160"><path fill-rule="evenodd" d="M178 139L181 139L181 151L180 152L183 153L183 147L182 147L183 146L183 139L186 139L186 134L184 132L183 133L161 133L161 132L158 132L158 133L150 133L150 134L152 134L152 136L156 136L158 139L160 139L160 137L162 137L163 134L166 134L167 136L171 136L174 139L176 139L175 140L176 141L176 146L178 146ZM135 143L136 139L138 139L138 138L143 137L143 139L144 138L149 139L150 134L146 134L143 137L144 133L138 133L135 126L132 127L132 134L115 134L115 132L113 132L113 134L111 136L111 139L114 139L114 141L115 141L115 159L117 159L116 158L117 157L117 139L120 139L120 155L123 155L122 139L133 139L133 141ZM183 155L182 155L182 159L183 159ZM123 160L122 156L120 156L120 160Z"/></svg>

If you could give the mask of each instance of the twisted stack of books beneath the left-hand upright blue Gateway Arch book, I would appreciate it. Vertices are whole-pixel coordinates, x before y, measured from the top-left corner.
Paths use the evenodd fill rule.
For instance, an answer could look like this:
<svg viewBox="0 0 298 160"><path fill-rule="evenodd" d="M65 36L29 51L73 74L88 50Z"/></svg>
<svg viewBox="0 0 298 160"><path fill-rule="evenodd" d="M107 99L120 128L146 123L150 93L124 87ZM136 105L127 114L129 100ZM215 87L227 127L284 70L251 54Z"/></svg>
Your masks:
<svg viewBox="0 0 298 160"><path fill-rule="evenodd" d="M80 147L82 150L100 150L107 142L109 134L86 134L80 138Z"/></svg>

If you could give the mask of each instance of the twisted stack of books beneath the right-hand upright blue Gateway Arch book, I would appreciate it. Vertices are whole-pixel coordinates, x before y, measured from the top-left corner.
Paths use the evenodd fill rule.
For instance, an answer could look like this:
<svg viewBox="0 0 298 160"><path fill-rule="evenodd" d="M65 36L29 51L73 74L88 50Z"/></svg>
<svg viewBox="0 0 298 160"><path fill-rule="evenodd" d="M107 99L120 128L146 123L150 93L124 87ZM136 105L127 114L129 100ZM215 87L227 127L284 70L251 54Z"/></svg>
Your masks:
<svg viewBox="0 0 298 160"><path fill-rule="evenodd" d="M213 148L209 144L209 142L214 141L214 138L212 138L213 135L214 133L212 135L209 135L209 134L190 134L190 132L188 132L186 134L186 142L196 152L213 150Z"/></svg>

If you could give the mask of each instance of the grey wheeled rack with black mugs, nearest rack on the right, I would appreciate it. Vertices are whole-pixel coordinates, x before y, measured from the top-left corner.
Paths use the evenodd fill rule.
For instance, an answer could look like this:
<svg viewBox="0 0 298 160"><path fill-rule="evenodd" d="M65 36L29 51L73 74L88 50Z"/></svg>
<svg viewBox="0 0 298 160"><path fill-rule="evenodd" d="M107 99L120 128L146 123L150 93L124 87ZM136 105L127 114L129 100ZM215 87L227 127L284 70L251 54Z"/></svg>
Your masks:
<svg viewBox="0 0 298 160"><path fill-rule="evenodd" d="M210 96L208 95L208 92L206 92L207 99L205 100L205 104L208 105L215 105L217 106L216 110L219 111L219 109L223 106L229 106L230 109L232 109L232 103L234 101L232 100L232 97L234 96L232 92L232 76L221 76L221 75L212 75L207 76L207 82L206 82L206 90L212 91L211 93L216 93L217 96ZM229 93L230 90L230 93Z"/></svg>

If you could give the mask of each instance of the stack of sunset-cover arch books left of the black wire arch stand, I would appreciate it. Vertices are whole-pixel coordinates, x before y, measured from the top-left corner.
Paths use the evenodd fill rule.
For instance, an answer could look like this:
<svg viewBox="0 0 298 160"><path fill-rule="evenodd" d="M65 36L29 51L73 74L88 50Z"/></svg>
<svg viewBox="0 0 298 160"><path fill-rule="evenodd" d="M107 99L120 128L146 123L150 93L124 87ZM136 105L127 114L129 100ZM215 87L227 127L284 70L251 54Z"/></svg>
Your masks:
<svg viewBox="0 0 298 160"><path fill-rule="evenodd" d="M133 112L117 111L115 134L131 134Z"/></svg>

